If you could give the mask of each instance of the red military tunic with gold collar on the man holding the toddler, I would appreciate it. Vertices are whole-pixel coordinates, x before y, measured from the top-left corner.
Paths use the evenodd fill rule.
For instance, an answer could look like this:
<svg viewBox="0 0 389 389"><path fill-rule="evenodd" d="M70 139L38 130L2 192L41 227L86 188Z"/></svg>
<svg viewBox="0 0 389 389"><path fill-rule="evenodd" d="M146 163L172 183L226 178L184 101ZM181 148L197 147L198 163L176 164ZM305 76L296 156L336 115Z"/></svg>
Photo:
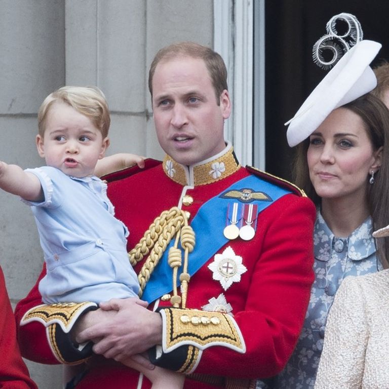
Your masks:
<svg viewBox="0 0 389 389"><path fill-rule="evenodd" d="M159 363L163 358L157 358L157 363L165 367L171 364L170 368L190 374L185 379L185 389L248 388L255 385L255 378L279 373L297 341L314 279L312 239L316 211L313 203L286 181L252 168L242 168L230 147L214 160L189 168L166 156L163 164L146 160L144 170L129 168L110 175L107 180L115 216L130 230L129 250L163 211L178 206L190 214L189 224L196 226L193 227L196 245L188 262L190 267L191 258L196 258L200 267L191 274L186 308L200 309L199 314L188 311L199 317L202 312L209 312L211 316L212 311L221 312L230 329L230 333L227 330L223 334L204 335L204 331L217 328L208 325L209 316L205 318L208 327L193 325L190 330L193 336L190 339L189 335L188 339L182 336L178 348L174 349L177 344L171 347L169 351L174 349L171 354L163 354L167 357L165 362ZM262 186L266 189L262 190ZM281 189L285 193L273 199ZM246 205L262 206L263 201L267 204L255 215L256 231L251 240L240 237L228 240L222 236L223 228L230 224L228 204L237 203L240 209L247 209ZM215 243L219 241L221 246ZM143 263L144 259L135 266L137 272ZM159 266L162 268L163 263L155 271ZM170 283L171 279L169 275ZM151 276L151 291L146 285L143 297L162 296L159 306L171 306L164 298L172 290L171 285L165 285L164 289L157 282L151 287L153 281ZM145 299L151 302L148 298ZM41 296L36 284L18 304L17 322L20 323L29 308L38 304L41 304ZM164 325L169 337L173 328L182 326L179 321L183 321L184 315L173 317L170 310L165 311ZM46 319L32 316L27 324L19 327L23 355L42 363L71 362L71 357L63 357L68 355L63 337L50 335L50 346L41 324ZM199 333L195 334L196 331ZM212 339L209 344L192 347L196 344L193 339L204 340L207 336ZM164 346L170 347L176 340L165 339L169 344L164 343ZM179 351L188 345L192 347L190 351L180 355ZM61 348L66 352L58 352ZM138 387L139 374L123 365L104 359L89 361L88 365L89 370L77 388ZM146 381L143 380L142 388L150 387Z"/></svg>

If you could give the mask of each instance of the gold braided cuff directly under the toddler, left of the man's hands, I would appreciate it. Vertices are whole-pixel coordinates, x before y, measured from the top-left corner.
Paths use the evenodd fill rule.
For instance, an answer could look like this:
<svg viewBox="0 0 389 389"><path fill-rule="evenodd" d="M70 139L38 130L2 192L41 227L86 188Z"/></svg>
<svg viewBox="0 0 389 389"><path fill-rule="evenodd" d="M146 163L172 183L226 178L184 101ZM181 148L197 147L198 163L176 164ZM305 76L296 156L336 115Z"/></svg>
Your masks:
<svg viewBox="0 0 389 389"><path fill-rule="evenodd" d="M63 332L68 333L77 319L85 313L85 310L90 310L91 307L96 309L97 304L87 301L81 303L62 302L51 305L37 305L24 314L20 325L38 321L45 327L49 327L56 323L61 326Z"/></svg>

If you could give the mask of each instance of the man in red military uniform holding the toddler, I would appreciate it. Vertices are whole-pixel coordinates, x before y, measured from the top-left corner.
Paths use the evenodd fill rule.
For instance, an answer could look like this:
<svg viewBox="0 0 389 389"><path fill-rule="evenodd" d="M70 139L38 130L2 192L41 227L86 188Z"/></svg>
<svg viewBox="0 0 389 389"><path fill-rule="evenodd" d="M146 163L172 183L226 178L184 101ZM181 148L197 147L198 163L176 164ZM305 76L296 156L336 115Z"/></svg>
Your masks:
<svg viewBox="0 0 389 389"><path fill-rule="evenodd" d="M147 351L186 374L185 388L250 388L290 357L313 282L316 211L294 185L239 164L223 136L226 78L209 48L160 50L149 89L164 161L106 177L148 309L134 298L40 305L37 284L18 304L26 358L72 364L94 341L93 356L67 369L68 387L148 388L120 364Z"/></svg>

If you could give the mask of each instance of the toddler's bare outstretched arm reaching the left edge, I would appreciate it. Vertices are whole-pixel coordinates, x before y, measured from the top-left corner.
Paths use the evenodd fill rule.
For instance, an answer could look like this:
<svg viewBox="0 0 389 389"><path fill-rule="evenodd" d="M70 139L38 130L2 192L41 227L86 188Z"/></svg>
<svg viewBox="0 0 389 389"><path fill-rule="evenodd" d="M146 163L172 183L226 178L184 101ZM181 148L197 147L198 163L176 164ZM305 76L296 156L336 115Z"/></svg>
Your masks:
<svg viewBox="0 0 389 389"><path fill-rule="evenodd" d="M25 172L20 166L8 165L0 161L0 188L28 201L43 201L40 180L32 173Z"/></svg>

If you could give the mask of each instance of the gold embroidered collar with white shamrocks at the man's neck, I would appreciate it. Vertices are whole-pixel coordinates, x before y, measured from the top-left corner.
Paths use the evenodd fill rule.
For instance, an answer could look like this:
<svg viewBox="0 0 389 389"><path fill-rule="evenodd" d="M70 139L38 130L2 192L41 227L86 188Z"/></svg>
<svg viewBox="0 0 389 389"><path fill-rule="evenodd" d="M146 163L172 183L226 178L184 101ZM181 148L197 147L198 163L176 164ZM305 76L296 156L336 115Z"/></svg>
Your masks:
<svg viewBox="0 0 389 389"><path fill-rule="evenodd" d="M228 177L241 167L230 143L215 157L191 166L181 165L166 154L162 166L170 179L183 186L210 184Z"/></svg>

